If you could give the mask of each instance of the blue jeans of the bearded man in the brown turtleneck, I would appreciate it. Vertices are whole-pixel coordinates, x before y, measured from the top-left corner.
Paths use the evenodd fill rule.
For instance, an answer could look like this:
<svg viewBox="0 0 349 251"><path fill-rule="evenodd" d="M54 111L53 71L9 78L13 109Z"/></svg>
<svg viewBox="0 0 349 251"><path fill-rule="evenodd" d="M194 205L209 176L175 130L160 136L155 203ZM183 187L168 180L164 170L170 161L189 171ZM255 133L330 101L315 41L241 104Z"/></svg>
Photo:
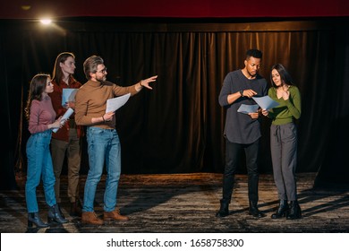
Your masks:
<svg viewBox="0 0 349 251"><path fill-rule="evenodd" d="M89 153L89 173L86 178L83 197L83 212L93 212L96 189L103 174L106 160L106 190L104 194L104 211L115 210L117 186L121 173L121 148L119 136L115 129L102 129L89 126L87 129Z"/></svg>

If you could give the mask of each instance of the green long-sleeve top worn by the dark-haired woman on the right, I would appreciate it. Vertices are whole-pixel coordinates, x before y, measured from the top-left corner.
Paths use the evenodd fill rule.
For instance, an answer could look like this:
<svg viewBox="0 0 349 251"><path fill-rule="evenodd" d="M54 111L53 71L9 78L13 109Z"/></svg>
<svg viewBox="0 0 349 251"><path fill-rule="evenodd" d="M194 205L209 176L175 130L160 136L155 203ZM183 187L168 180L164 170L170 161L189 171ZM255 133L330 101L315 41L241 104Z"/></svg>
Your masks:
<svg viewBox="0 0 349 251"><path fill-rule="evenodd" d="M290 97L284 100L282 97L277 99L276 88L271 87L268 90L268 96L279 103L279 106L272 108L268 113L273 125L285 125L293 122L294 118L301 117L301 93L294 85L290 85L288 91L290 91Z"/></svg>

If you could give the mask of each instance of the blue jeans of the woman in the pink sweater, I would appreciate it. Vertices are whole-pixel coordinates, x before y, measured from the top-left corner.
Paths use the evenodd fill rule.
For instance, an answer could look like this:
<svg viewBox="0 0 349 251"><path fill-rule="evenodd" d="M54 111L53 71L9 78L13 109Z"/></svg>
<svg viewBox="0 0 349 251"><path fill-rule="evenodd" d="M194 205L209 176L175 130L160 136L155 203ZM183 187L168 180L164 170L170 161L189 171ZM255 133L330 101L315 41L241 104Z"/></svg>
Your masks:
<svg viewBox="0 0 349 251"><path fill-rule="evenodd" d="M31 134L27 142L28 169L25 198L28 212L38 212L37 186L40 177L47 204L49 206L55 204L55 175L49 150L51 134L51 130Z"/></svg>

